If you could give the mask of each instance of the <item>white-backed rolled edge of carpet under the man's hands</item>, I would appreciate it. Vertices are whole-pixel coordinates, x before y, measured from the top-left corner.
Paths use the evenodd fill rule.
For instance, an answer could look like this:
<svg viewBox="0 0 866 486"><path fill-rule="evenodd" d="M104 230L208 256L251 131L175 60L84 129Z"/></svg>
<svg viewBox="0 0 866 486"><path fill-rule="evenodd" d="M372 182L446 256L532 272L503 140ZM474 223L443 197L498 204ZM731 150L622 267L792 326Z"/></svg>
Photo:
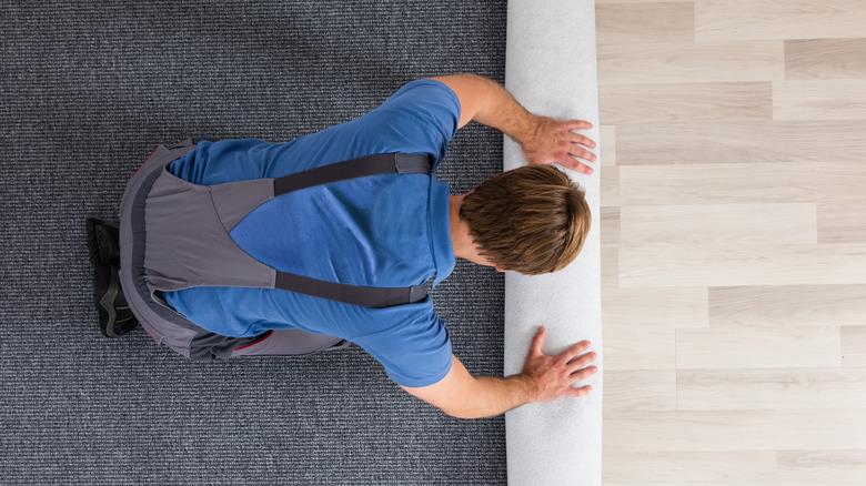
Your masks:
<svg viewBox="0 0 866 486"><path fill-rule="evenodd" d="M598 94L593 0L510 0L505 87L531 112L586 120L581 133L598 140ZM594 151L598 155L598 151ZM600 178L565 170L586 191L592 227L581 254L553 274L505 275L506 375L520 373L532 336L547 327L544 351L556 354L588 340L598 374L583 384L582 398L524 405L505 415L508 484L602 483L602 305ZM518 144L505 138L504 170L526 164Z"/></svg>

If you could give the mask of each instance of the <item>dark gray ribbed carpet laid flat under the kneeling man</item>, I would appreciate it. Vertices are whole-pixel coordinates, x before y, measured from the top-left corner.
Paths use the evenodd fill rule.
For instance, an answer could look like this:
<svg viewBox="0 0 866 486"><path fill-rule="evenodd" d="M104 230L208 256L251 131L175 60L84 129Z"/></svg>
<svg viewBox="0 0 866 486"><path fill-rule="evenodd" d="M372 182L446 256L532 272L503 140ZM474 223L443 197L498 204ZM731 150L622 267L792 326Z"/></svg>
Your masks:
<svg viewBox="0 0 866 486"><path fill-rule="evenodd" d="M2 0L0 42L0 484L504 483L502 418L444 416L358 347L192 363L103 338L83 232L159 143L288 141L416 78L502 81L504 1ZM466 191L501 151L464 129L437 175ZM501 374L501 276L460 264L434 297L470 371Z"/></svg>

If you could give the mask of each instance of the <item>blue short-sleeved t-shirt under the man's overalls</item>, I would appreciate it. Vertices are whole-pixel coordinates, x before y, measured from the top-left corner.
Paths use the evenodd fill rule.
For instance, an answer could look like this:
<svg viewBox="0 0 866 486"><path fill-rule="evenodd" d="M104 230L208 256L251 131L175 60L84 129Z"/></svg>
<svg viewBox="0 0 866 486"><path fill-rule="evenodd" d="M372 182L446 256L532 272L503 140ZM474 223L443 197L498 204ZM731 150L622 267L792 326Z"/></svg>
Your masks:
<svg viewBox="0 0 866 486"><path fill-rule="evenodd" d="M460 101L445 84L404 85L382 105L288 143L201 142L171 164L197 184L272 179L373 153L431 154L434 166L457 130ZM283 272L352 285L404 287L454 269L449 186L425 174L386 174L294 191L250 212L230 233ZM451 340L430 297L366 308L282 290L193 287L165 301L199 326L228 336L301 328L351 341L403 386L426 386L451 369Z"/></svg>

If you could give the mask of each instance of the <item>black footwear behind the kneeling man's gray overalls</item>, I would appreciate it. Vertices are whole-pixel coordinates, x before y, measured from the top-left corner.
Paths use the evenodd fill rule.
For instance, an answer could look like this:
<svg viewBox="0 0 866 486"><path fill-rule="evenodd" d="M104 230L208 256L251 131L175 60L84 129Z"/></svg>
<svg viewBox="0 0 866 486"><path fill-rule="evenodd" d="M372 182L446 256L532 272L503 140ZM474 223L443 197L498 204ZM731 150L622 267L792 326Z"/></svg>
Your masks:
<svg viewBox="0 0 866 486"><path fill-rule="evenodd" d="M93 265L93 303L99 330L105 337L120 337L139 324L120 286L120 232L118 224L90 217L88 251Z"/></svg>

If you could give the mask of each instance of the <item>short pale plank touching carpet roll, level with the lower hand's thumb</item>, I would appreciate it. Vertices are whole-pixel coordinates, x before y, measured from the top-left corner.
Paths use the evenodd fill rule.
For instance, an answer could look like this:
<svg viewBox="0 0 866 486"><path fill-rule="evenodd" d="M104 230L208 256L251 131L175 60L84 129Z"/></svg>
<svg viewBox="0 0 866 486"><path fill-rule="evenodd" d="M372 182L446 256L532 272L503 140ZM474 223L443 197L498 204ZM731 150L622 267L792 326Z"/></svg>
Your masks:
<svg viewBox="0 0 866 486"><path fill-rule="evenodd" d="M604 369L674 369L676 342L673 328L605 327ZM838 355L838 348L837 353Z"/></svg>

